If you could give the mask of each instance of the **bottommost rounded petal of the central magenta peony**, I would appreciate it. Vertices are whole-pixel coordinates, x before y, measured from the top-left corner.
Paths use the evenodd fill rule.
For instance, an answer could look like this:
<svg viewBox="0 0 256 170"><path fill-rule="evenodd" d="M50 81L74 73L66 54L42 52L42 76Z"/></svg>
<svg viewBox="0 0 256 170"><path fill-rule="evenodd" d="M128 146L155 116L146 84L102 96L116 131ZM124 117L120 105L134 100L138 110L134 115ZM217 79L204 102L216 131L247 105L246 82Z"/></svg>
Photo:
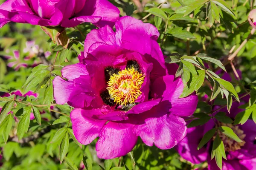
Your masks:
<svg viewBox="0 0 256 170"><path fill-rule="evenodd" d="M132 132L132 125L108 122L99 134L96 143L97 156L102 159L113 159L131 152L137 142Z"/></svg>

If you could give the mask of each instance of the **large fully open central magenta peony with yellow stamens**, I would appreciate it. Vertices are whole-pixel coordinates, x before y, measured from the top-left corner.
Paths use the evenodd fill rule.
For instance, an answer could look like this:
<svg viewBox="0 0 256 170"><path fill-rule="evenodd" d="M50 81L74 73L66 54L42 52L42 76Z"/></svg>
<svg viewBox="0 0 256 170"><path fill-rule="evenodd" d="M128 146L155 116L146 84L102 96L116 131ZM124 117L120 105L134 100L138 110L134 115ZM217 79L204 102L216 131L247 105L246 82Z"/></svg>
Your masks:
<svg viewBox="0 0 256 170"><path fill-rule="evenodd" d="M81 62L62 69L67 80L53 80L55 101L75 108L70 117L81 144L99 137L99 158L126 155L138 136L148 146L172 148L186 135L180 116L192 115L198 97L179 99L183 83L175 79L177 65L165 65L156 27L132 17L115 26L87 34Z"/></svg>

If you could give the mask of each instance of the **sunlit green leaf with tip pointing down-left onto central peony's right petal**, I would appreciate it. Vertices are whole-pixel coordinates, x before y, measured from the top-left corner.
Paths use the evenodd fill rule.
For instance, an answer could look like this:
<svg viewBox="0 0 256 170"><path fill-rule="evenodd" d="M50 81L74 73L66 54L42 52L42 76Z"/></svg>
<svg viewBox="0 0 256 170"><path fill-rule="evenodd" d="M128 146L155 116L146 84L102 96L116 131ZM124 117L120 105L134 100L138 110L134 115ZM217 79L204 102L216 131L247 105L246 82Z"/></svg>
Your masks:
<svg viewBox="0 0 256 170"><path fill-rule="evenodd" d="M191 81L187 83L187 85L184 87L182 94L179 98L183 98L188 96L189 94L192 94L194 91L198 91L198 89L203 85L204 78L205 78L205 71L204 70L197 70L197 75L192 75Z"/></svg>

